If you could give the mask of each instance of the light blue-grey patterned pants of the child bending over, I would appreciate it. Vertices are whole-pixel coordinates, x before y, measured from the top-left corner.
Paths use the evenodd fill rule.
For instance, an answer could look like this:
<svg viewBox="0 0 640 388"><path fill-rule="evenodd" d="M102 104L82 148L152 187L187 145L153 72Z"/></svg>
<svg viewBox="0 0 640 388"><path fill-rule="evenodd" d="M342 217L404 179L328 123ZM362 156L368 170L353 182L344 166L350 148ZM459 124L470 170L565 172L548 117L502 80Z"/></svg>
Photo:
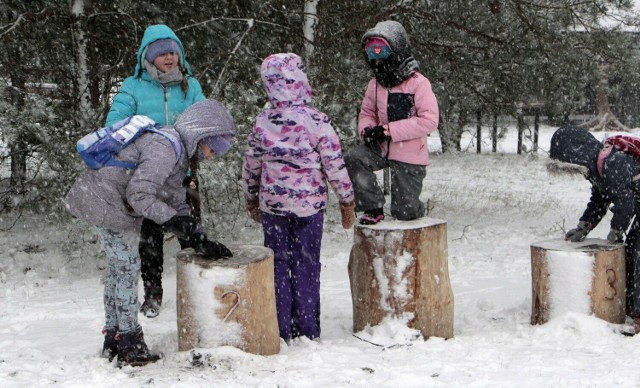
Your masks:
<svg viewBox="0 0 640 388"><path fill-rule="evenodd" d="M107 255L104 284L105 329L127 333L138 328L138 235L96 228Z"/></svg>

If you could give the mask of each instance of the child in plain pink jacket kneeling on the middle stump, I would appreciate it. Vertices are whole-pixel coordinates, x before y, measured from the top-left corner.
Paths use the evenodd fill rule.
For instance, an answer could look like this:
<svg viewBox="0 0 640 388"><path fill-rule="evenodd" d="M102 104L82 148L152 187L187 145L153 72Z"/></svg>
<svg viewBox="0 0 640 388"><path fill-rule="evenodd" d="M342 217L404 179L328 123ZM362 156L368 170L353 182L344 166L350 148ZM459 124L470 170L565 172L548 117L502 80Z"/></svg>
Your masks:
<svg viewBox="0 0 640 388"><path fill-rule="evenodd" d="M362 37L365 60L373 70L358 120L364 145L345 162L356 194L361 224L384 219L384 194L375 171L391 169L391 215L398 220L424 216L419 196L427 175L427 135L438 128L438 102L431 83L418 71L409 36L396 21L384 21Z"/></svg>

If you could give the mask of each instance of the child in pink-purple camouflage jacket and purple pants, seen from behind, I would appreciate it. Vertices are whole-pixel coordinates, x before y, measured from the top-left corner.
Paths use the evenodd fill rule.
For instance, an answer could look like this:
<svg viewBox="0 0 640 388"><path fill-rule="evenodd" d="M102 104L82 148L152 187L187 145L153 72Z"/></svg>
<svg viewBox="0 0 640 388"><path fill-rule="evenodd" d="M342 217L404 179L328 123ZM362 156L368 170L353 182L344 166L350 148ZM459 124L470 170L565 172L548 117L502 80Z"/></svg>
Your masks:
<svg viewBox="0 0 640 388"><path fill-rule="evenodd" d="M353 188L340 139L329 118L311 106L302 59L274 54L262 62L271 107L260 113L244 155L247 211L262 223L274 252L280 337L320 336L320 242L331 185L342 226L355 221Z"/></svg>

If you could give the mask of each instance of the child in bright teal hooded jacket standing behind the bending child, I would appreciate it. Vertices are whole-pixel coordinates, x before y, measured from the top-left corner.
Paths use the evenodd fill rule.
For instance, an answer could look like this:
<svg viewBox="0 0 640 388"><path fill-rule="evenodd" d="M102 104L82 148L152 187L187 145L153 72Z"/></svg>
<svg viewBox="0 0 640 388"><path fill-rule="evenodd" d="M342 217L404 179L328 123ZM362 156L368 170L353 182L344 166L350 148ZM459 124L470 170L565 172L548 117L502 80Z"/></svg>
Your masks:
<svg viewBox="0 0 640 388"><path fill-rule="evenodd" d="M204 99L178 36L166 25L152 25L142 37L133 75L124 80L113 99L106 125L145 115L158 124L172 126L185 109ZM196 172L197 161L192 160L184 183L192 215L199 219ZM140 310L149 318L156 317L162 305L163 242L162 228L145 219L138 249L145 297ZM181 240L180 245L185 248L187 243Z"/></svg>

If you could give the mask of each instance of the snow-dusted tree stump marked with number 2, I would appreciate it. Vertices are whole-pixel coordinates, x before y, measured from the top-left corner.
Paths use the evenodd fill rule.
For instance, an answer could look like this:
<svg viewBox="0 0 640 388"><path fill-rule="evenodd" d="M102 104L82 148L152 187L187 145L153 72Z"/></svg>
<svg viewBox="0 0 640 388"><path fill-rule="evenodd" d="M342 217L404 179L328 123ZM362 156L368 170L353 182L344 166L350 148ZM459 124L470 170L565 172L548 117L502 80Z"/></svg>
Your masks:
<svg viewBox="0 0 640 388"><path fill-rule="evenodd" d="M178 349L234 346L248 353L280 351L273 251L230 247L233 257L207 260L193 249L177 255Z"/></svg>

